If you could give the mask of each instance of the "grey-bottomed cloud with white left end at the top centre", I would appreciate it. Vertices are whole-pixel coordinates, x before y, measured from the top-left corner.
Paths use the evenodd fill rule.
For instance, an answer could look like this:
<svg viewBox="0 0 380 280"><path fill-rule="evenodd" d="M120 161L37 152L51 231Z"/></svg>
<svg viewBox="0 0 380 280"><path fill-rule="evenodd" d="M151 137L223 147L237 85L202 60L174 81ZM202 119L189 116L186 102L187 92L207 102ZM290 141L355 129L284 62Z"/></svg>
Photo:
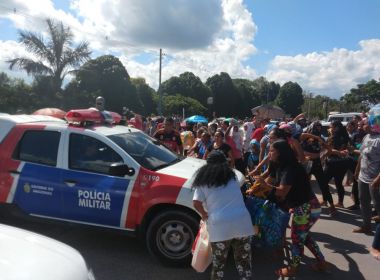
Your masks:
<svg viewBox="0 0 380 280"><path fill-rule="evenodd" d="M72 7L110 38L145 47L202 48L223 23L220 0L76 0Z"/></svg>

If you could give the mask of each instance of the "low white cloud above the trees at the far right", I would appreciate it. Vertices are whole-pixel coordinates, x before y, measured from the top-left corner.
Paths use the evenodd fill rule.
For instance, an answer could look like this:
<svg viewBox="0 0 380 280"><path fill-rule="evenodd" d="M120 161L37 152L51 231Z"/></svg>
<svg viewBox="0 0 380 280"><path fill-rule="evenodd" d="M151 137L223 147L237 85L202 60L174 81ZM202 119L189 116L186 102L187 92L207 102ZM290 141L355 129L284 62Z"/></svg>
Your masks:
<svg viewBox="0 0 380 280"><path fill-rule="evenodd" d="M357 51L333 49L331 52L276 56L267 78L281 84L298 82L307 91L339 98L359 83L380 78L380 40L363 40L359 46Z"/></svg>

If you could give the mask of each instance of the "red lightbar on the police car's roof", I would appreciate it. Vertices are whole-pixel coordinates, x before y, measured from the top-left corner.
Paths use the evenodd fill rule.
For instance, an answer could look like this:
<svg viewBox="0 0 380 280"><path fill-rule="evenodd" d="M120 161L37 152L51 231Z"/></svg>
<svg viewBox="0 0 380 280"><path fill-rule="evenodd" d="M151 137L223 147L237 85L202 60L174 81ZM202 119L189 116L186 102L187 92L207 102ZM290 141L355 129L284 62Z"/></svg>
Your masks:
<svg viewBox="0 0 380 280"><path fill-rule="evenodd" d="M118 124L121 116L110 111L99 111L95 108L70 110L65 119L69 124L82 126L85 124Z"/></svg>

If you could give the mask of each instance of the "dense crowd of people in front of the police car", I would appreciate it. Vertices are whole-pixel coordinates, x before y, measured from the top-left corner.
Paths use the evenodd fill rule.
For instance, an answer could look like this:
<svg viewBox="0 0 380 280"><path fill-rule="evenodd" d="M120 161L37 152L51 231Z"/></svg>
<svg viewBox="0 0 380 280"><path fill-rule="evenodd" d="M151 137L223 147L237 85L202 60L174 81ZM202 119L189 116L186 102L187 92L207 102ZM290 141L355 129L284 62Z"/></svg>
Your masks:
<svg viewBox="0 0 380 280"><path fill-rule="evenodd" d="M194 182L194 207L211 225L212 279L223 278L230 246L240 278L251 277L247 238L253 232L245 225L248 212L235 190L238 184L232 168L254 178L261 186L270 187L271 196L280 207L292 213L292 258L287 267L276 271L279 276L296 274L304 246L317 260L314 270L328 269L310 228L318 220L321 207L328 207L329 214L335 217L337 209L349 204L345 186L351 186L352 200L346 209L361 210L362 225L353 232L373 232L373 223L380 222L380 106L345 125L338 120L331 122L327 136L322 129L320 121L310 122L303 114L288 121L253 116L245 121L229 118L184 124L166 118L161 123L147 123L146 133L174 152L206 160ZM320 189L320 200L310 185L312 175ZM332 179L337 201L331 194ZM231 227L232 222L236 226ZM377 259L379 240L377 225L370 250Z"/></svg>

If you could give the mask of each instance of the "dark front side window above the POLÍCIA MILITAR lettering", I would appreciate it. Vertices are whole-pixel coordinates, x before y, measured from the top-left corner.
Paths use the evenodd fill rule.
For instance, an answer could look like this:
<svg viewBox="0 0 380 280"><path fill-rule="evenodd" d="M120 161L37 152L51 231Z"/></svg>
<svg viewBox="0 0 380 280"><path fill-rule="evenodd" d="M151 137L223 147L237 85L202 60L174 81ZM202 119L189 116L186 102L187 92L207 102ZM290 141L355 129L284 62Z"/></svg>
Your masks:
<svg viewBox="0 0 380 280"><path fill-rule="evenodd" d="M117 162L123 162L121 156L102 141L82 134L70 134L70 169L109 174L109 167Z"/></svg>

